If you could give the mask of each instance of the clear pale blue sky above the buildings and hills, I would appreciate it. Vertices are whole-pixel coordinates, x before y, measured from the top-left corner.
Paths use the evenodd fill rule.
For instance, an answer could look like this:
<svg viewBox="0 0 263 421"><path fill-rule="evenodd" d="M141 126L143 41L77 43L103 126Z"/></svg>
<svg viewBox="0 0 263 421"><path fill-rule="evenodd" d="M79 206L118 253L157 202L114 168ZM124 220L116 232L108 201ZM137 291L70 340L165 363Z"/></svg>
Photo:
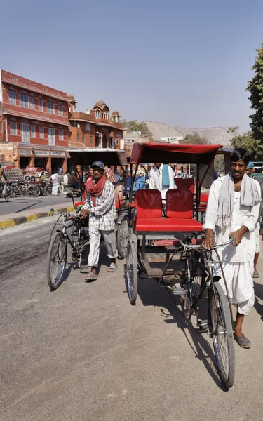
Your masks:
<svg viewBox="0 0 263 421"><path fill-rule="evenodd" d="M102 98L125 119L249 129L262 0L13 0L1 4L0 68Z"/></svg>

